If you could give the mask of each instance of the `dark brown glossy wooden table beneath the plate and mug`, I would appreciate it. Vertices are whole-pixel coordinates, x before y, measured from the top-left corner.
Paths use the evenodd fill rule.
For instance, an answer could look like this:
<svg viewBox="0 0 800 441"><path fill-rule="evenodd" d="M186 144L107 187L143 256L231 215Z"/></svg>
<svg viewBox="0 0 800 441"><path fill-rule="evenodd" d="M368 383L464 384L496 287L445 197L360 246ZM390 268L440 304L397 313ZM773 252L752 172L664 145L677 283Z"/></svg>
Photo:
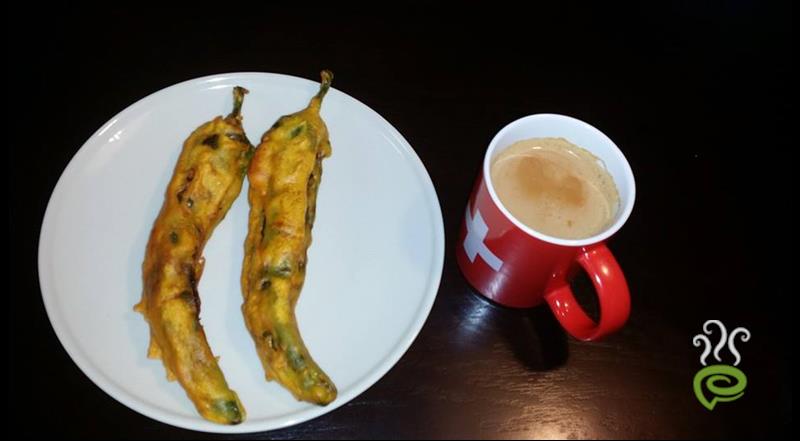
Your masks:
<svg viewBox="0 0 800 441"><path fill-rule="evenodd" d="M86 138L133 101L212 73L315 78L328 67L337 88L385 116L425 163L447 235L441 288L416 342L372 388L310 422L241 438L788 434L797 261L791 7L603 3L472 17L460 8L339 11L347 19L310 8L71 10L37 19L33 32L7 26L10 423L29 437L218 438L137 414L73 364L38 287L44 209ZM7 23L12 17L23 16ZM633 215L611 243L633 312L603 342L569 338L548 310L487 303L455 264L489 140L541 112L597 126L636 175ZM591 308L585 277L576 286ZM739 346L745 395L713 412L692 392L701 366L691 344L712 318L752 332Z"/></svg>

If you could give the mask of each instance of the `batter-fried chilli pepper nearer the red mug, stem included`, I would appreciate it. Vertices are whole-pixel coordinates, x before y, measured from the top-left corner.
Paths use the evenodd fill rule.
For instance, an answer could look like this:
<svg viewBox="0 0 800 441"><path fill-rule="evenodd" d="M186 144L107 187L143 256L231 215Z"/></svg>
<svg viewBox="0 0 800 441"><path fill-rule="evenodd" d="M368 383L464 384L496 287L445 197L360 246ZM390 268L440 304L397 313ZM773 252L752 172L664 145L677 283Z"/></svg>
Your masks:
<svg viewBox="0 0 800 441"><path fill-rule="evenodd" d="M320 405L336 398L336 386L311 358L294 308L305 280L322 159L331 154L319 114L331 80L323 71L320 91L308 107L281 117L261 138L248 172L242 270L242 311L267 379L298 400Z"/></svg>

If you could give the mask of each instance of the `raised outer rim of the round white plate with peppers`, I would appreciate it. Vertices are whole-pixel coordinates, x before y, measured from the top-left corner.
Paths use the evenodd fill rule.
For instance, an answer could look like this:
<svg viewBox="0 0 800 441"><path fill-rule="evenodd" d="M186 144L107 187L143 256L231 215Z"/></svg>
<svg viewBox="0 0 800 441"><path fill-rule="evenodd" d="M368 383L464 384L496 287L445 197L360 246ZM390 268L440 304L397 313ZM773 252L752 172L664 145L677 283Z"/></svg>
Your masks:
<svg viewBox="0 0 800 441"><path fill-rule="evenodd" d="M98 367L96 367L94 363L90 361L91 358L83 353L83 348L81 348L80 344L77 342L77 339L71 335L66 320L60 317L57 310L57 305L55 305L55 296L57 296L57 290L53 288L54 284L50 283L49 280L49 278L52 277L52 272L48 269L48 259L50 256L48 251L50 247L49 244L52 243L49 238L54 234L52 230L55 226L53 222L55 216L54 211L57 208L56 205L58 201L63 198L62 194L64 191L66 191L65 186L67 185L67 181L72 174L75 173L73 169L77 167L76 164L78 164L82 156L88 154L88 145L94 140L94 138L110 128L110 126L119 119L136 111L139 107L146 105L149 100L156 99L158 96L167 94L170 91L185 87L193 87L204 83L221 82L235 78L249 79L264 77L273 77L284 81L300 81L317 84L314 81L293 75L273 72L246 71L205 75L202 77L184 80L152 92L116 113L83 142L80 148L75 152L75 154L73 154L66 167L64 167L64 170L61 172L56 185L53 187L53 190L50 193L50 197L47 202L47 208L45 209L45 213L42 218L42 224L38 237L39 243L37 255L39 290L42 296L45 311L47 313L47 318L50 321L50 325L53 327L53 331L55 332L58 341L61 343L61 346L67 352L72 362L78 366L83 375L88 377L88 379L94 383L94 385L100 388L100 390L105 392L108 396L141 415L182 429L210 433L255 433L294 426L296 424L310 421L322 415L333 412L337 408L352 401L364 393L367 389L378 383L381 378L383 378L392 368L394 368L403 355L408 352L409 348L419 336L423 326L430 316L430 312L433 308L434 302L438 295L439 287L441 285L445 254L444 220L439 197L436 192L436 187L433 184L433 180L430 177L430 173L408 140L406 140L405 137L397 130L397 128L387 121L383 115L351 95L348 95L339 89L332 88L339 92L345 100L350 100L356 105L362 106L368 112L371 112L374 117L377 117L378 120L384 124L384 132L391 135L396 144L403 148L405 153L404 156L410 159L410 165L412 166L412 169L414 170L415 174L418 175L421 183L423 184L425 197L428 199L426 205L428 205L428 208L431 209L431 214L434 217L433 222L436 224L434 225L433 231L433 262L431 264L431 272L429 273L427 286L425 288L425 297L418 308L419 313L416 315L415 320L407 328L407 331L405 331L405 334L402 336L402 338L397 342L395 348L388 354L388 356L378 363L377 368L368 371L367 375L358 380L350 388L350 394L347 394L345 397L340 396L340 398L337 398L337 400L328 406L311 407L299 412L294 412L290 414L292 416L291 418L287 418L285 421L281 421L278 424L275 424L269 420L260 422L253 421L252 423L246 420L243 424L226 426L203 420L199 415L193 415L192 417L175 415L171 411L158 409L148 403L141 402L135 396L128 394L123 388L115 384L112 378L108 377L106 373L102 372Z"/></svg>

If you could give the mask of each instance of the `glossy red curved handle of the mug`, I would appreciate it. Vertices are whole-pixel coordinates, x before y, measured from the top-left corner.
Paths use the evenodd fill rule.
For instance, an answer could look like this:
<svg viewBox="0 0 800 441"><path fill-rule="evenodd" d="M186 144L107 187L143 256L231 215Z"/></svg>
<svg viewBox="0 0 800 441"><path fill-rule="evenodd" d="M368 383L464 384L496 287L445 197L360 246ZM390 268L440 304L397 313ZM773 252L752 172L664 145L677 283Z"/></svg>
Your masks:
<svg viewBox="0 0 800 441"><path fill-rule="evenodd" d="M568 272L555 275L545 290L544 298L561 326L573 337L583 341L599 340L618 330L628 320L631 299L628 282L606 244L582 247L575 258L592 279L600 303L600 321L586 315L572 294Z"/></svg>

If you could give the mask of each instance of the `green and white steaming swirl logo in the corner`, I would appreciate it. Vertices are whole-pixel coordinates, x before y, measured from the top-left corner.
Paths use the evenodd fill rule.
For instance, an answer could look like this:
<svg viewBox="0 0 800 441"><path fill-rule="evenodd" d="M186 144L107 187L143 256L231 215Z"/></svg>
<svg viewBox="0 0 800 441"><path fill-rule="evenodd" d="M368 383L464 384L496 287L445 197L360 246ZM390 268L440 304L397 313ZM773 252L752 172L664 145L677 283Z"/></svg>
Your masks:
<svg viewBox="0 0 800 441"><path fill-rule="evenodd" d="M720 351L727 346L728 352L733 355L733 365L713 364L708 366L706 358L712 354L710 336L714 335L714 327L719 331L719 340L713 347L714 359L722 362ZM736 401L744 395L747 387L747 376L736 366L742 361L742 356L736 350L736 338L742 342L750 340L750 331L746 328L736 328L730 335L727 328L719 320L708 320L703 324L703 334L697 334L692 338L692 344L699 348L703 347L700 355L700 364L705 366L694 376L694 394L700 404L708 410L714 410L717 403ZM710 399L708 398L710 396Z"/></svg>

